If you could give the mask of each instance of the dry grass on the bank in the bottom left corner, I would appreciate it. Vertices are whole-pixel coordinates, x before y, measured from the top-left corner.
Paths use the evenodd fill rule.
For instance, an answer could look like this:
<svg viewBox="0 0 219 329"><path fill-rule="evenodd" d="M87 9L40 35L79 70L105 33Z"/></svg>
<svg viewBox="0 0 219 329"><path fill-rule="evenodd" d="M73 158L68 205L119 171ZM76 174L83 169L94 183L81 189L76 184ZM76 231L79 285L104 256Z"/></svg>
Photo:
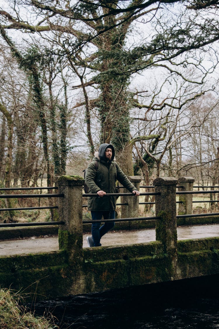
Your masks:
<svg viewBox="0 0 219 329"><path fill-rule="evenodd" d="M8 289L0 289L0 328L1 329L54 329L58 327L51 319L35 317L18 304L18 294Z"/></svg>

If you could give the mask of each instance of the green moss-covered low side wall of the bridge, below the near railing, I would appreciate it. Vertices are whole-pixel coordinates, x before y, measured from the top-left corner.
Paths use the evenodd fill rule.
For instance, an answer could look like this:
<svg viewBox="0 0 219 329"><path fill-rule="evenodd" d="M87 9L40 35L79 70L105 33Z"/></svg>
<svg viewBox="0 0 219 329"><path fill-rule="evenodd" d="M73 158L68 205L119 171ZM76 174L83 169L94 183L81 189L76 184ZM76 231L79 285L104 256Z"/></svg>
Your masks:
<svg viewBox="0 0 219 329"><path fill-rule="evenodd" d="M42 299L219 273L219 238L178 241L177 263L160 241L84 248L82 255L81 236L60 230L59 238L60 251L0 257L0 286L37 289Z"/></svg>

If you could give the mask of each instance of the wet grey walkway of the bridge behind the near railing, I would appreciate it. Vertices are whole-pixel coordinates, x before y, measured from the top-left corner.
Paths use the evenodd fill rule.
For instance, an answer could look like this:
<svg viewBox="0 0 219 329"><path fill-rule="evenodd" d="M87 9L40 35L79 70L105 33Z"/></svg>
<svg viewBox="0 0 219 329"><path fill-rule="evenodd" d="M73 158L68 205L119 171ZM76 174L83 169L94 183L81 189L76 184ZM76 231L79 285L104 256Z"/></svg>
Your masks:
<svg viewBox="0 0 219 329"><path fill-rule="evenodd" d="M219 224L181 226L177 228L178 240L219 237ZM87 234L83 235L83 247L87 247ZM155 229L133 231L111 231L102 237L102 246L123 245L155 241ZM32 237L19 240L0 241L0 256L59 249L57 236Z"/></svg>

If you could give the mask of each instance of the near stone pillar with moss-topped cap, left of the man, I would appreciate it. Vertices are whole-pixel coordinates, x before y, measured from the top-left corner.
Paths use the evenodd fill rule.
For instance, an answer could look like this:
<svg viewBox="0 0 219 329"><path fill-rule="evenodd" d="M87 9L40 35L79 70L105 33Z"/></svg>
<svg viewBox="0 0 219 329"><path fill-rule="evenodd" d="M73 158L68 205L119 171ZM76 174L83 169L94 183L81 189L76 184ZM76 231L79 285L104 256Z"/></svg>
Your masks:
<svg viewBox="0 0 219 329"><path fill-rule="evenodd" d="M59 248L68 251L69 260L77 262L82 258L82 186L84 179L80 176L61 176L57 180L59 193Z"/></svg>

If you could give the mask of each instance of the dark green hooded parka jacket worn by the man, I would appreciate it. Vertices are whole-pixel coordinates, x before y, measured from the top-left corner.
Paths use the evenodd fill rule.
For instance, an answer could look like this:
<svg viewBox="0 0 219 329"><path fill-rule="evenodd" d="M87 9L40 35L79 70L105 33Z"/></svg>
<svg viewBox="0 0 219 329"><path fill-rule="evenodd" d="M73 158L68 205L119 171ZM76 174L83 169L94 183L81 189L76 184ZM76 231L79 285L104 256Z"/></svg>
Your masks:
<svg viewBox="0 0 219 329"><path fill-rule="evenodd" d="M112 149L112 160L105 161L105 150ZM115 156L114 147L111 144L101 144L98 157L88 165L85 175L85 183L89 193L97 193L102 190L106 193L116 193L116 181L118 180L130 192L137 190L123 173L119 165L113 161ZM98 169L95 169L95 160L98 161ZM115 196L88 197L88 210L109 211L116 209Z"/></svg>

